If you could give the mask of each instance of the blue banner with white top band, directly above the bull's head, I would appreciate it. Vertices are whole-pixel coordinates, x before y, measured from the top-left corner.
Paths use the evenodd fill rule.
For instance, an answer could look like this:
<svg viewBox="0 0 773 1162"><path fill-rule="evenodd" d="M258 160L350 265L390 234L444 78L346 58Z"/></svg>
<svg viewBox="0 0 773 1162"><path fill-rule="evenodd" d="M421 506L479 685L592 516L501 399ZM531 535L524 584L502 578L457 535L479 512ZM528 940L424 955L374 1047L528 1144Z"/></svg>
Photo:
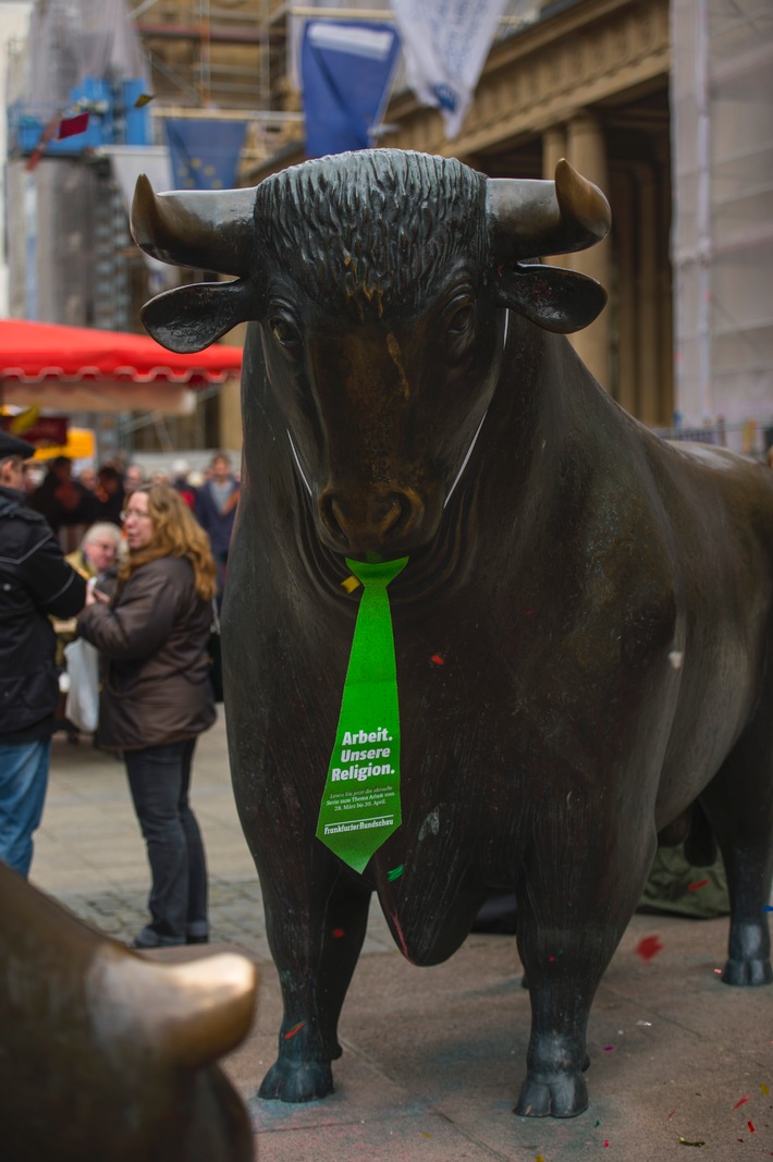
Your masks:
<svg viewBox="0 0 773 1162"><path fill-rule="evenodd" d="M308 157L367 149L400 52L391 24L312 20L303 30L301 76Z"/></svg>

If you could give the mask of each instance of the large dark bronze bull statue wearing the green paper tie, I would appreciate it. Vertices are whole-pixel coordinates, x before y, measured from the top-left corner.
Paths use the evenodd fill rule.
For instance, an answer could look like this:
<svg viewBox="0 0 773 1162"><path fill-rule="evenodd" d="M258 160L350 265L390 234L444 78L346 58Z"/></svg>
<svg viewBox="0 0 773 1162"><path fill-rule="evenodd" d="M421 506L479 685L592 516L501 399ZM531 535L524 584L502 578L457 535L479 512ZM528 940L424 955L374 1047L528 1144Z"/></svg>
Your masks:
<svg viewBox="0 0 773 1162"><path fill-rule="evenodd" d="M332 1089L336 1028L378 894L416 964L517 898L531 994L516 1110L587 1105L586 1025L658 833L692 805L732 898L728 984L771 982L773 474L672 446L561 332L604 303L535 261L592 245L603 195L392 150L253 189L156 196L134 231L235 275L144 310L195 351L250 321L223 611L231 766L285 1016L260 1093ZM315 838L362 590L392 582L402 824L363 873ZM400 873L400 874L398 874Z"/></svg>

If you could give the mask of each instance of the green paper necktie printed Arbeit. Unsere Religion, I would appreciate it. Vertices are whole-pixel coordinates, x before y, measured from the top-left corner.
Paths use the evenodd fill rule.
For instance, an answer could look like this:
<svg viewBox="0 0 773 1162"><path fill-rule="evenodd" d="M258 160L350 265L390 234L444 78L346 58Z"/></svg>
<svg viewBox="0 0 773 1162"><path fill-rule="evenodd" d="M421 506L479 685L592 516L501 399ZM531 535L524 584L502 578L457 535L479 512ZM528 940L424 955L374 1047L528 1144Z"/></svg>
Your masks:
<svg viewBox="0 0 773 1162"><path fill-rule="evenodd" d="M363 873L400 826L400 710L387 586L408 564L346 565L363 582L316 834Z"/></svg>

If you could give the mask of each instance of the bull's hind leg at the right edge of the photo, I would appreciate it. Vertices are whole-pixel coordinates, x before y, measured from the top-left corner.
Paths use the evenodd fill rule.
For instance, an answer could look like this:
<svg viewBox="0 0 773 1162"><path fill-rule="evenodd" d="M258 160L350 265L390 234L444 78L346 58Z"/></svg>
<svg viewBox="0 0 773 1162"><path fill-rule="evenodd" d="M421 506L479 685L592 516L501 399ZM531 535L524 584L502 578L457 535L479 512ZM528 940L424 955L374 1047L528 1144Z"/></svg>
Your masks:
<svg viewBox="0 0 773 1162"><path fill-rule="evenodd" d="M770 705L770 703L768 703ZM730 889L725 984L771 984L765 905L773 878L773 720L757 720L701 796L720 841Z"/></svg>

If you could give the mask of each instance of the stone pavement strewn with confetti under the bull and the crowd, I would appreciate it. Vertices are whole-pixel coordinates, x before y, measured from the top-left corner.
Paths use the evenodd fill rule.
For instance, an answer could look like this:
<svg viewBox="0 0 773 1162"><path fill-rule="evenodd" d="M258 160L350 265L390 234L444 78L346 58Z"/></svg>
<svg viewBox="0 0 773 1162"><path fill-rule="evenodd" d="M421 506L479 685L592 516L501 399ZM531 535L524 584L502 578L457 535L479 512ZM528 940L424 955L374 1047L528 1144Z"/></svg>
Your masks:
<svg viewBox="0 0 773 1162"><path fill-rule="evenodd" d="M773 989L720 983L725 920L634 918L591 1017L591 1109L558 1121L511 1112L529 1030L514 939L473 935L445 964L418 969L375 905L344 1005L336 1093L303 1106L260 1102L281 1005L222 722L200 743L192 802L215 949L260 964L253 1031L226 1068L251 1110L262 1162L679 1162L686 1148L716 1162L773 1157ZM145 920L144 845L123 767L88 743L55 738L31 878L119 940ZM661 945L650 960L636 951L645 937ZM193 954L206 949L153 955Z"/></svg>

